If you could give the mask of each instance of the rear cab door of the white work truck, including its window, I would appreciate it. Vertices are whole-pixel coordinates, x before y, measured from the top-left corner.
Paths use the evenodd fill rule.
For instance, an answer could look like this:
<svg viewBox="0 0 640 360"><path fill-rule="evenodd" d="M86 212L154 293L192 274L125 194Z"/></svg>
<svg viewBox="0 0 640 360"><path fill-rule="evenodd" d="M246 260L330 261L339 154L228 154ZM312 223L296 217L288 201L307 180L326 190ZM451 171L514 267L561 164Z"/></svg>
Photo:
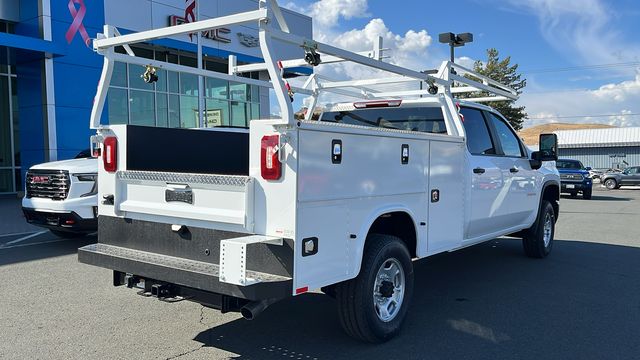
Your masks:
<svg viewBox="0 0 640 360"><path fill-rule="evenodd" d="M497 156L482 111L462 107L460 113L468 150L465 176L470 179L465 239L474 239L506 226L499 210L508 189L500 169L502 159Z"/></svg>

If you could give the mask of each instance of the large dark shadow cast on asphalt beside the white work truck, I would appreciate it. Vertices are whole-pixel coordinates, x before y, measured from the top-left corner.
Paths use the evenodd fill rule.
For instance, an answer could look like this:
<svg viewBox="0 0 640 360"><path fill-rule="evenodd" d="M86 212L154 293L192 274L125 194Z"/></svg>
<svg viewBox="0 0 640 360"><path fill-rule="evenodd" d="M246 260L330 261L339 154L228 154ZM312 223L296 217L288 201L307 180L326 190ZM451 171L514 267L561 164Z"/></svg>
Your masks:
<svg viewBox="0 0 640 360"><path fill-rule="evenodd" d="M307 294L196 341L241 359L569 359L640 354L640 248L555 241L544 260L498 239L415 263L403 332L362 344L336 303Z"/></svg>

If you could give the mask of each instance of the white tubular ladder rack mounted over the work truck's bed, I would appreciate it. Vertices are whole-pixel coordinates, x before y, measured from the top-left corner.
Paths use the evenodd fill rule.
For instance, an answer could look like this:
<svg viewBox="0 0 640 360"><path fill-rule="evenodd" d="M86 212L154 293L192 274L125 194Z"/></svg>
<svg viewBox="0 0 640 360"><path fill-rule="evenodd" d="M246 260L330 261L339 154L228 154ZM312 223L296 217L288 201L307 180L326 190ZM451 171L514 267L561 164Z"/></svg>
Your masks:
<svg viewBox="0 0 640 360"><path fill-rule="evenodd" d="M236 57L231 55L229 56L227 74L137 57L129 47L130 44L134 43L148 42L183 34L199 34L210 29L247 23L258 24L259 43L264 62L237 65ZM272 47L274 41L299 46L302 57L294 60L278 59ZM115 51L115 48L120 46L124 47L126 54ZM100 114L102 114L104 108L107 90L116 62L137 64L147 66L151 69L165 69L194 74L199 77L200 83L202 83L202 78L206 76L273 88L282 113L281 121L283 125L293 125L296 121L292 107L293 94L309 96L311 100L308 106L309 109L314 109L317 106L318 98L325 92L365 100L448 95L443 96L443 99L447 102L449 108L454 108L452 99L454 99L456 94L469 94L470 97L466 97L464 100L474 102L518 99L518 93L510 87L450 61L443 62L437 70L425 72L386 63L382 61L384 57L382 53L385 50L382 48L382 38L379 38L375 42L372 51L355 53L295 35L290 32L276 0L259 0L258 9L254 11L127 35L120 35L115 27L105 25L104 33L98 34L98 38L93 42L93 47L98 53L104 56L104 66L91 112L90 126L92 129L100 127ZM198 46L198 58L202 56L201 51L201 47ZM284 76L285 69L301 66L316 67L338 62L353 62L379 70L381 73L388 73L389 75L369 79L334 81L320 74L313 73L308 76L306 82L301 86L291 86ZM267 71L270 81L256 80L242 76L243 74L254 71ZM371 86L377 85L409 82L420 82L426 86L421 86L421 89L417 90L402 91L378 91L370 88ZM202 97L202 91L199 93L200 97ZM477 94L483 95L473 97ZM202 103L202 99L200 99L200 103ZM306 120L311 120L312 115L313 111L307 111L305 115ZM202 117L202 111L200 111L200 116ZM202 124L202 120L200 124ZM455 129L455 131L457 134L453 135L463 133L462 129L459 128Z"/></svg>

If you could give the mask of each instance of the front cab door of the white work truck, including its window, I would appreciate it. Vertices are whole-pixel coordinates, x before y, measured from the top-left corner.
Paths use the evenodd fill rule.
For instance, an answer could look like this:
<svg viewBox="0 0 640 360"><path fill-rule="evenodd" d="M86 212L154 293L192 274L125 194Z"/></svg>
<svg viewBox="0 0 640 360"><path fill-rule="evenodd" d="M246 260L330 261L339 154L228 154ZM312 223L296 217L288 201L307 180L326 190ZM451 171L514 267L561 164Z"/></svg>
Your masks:
<svg viewBox="0 0 640 360"><path fill-rule="evenodd" d="M502 157L500 168L505 179L505 201L500 212L507 227L522 225L537 209L536 184L540 181L536 181L536 176L541 175L531 169L524 145L507 121L492 112L485 111L485 116Z"/></svg>

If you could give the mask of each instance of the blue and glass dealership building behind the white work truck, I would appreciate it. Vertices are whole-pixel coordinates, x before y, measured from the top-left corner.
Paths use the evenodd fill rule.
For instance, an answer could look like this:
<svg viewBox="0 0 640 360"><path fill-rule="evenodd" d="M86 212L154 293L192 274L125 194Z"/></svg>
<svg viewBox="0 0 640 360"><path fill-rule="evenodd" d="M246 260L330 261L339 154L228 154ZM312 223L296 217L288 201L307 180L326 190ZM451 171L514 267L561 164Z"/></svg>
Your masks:
<svg viewBox="0 0 640 360"><path fill-rule="evenodd" d="M200 19L258 7L257 0L198 3ZM126 34L176 25L184 21L184 8L184 0L0 1L0 194L21 191L30 166L73 158L89 147L89 115L103 63L91 39L103 26ZM283 11L292 32L312 36L311 18ZM239 64L262 61L252 24L213 29L202 36L206 69L227 73L229 55L237 56ZM140 57L197 67L195 38L183 35L132 48ZM281 59L302 56L300 48L276 46ZM141 78L144 71L142 66L117 64L103 124L244 128L269 114L266 88L205 78L199 94L194 75L160 69L158 82L147 84ZM206 112L203 123L200 97Z"/></svg>

